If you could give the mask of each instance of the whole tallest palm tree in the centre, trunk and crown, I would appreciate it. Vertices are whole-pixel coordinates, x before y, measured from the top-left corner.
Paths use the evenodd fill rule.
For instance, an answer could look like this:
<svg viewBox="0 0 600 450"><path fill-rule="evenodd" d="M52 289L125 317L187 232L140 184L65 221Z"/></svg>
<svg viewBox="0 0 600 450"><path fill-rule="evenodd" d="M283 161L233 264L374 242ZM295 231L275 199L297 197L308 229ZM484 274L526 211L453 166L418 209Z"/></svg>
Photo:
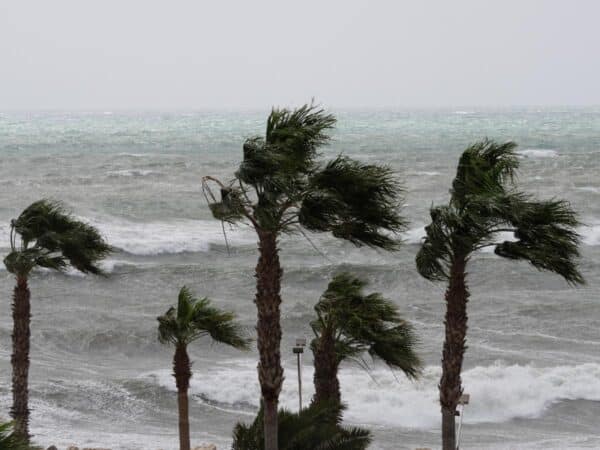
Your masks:
<svg viewBox="0 0 600 450"><path fill-rule="evenodd" d="M278 238L304 229L391 250L399 245L393 233L405 229L399 215L403 191L388 167L344 156L326 164L316 161L334 124L332 115L312 105L274 109L265 137L245 142L233 182L203 179L213 215L228 223L248 223L258 236L255 303L265 450L278 448L277 407L283 383ZM220 186L220 199L207 188L209 181Z"/></svg>

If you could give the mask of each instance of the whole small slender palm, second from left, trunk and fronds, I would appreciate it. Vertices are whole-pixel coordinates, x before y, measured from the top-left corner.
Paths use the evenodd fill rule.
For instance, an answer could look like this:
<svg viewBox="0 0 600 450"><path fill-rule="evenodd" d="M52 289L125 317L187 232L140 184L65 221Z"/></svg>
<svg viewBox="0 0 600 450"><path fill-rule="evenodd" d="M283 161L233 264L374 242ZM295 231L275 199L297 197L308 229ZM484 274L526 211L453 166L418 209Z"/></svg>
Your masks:
<svg viewBox="0 0 600 450"><path fill-rule="evenodd" d="M187 346L202 336L210 336L216 342L247 350L250 341L244 337L234 319L233 313L211 306L207 298L194 298L185 286L179 291L177 308L171 307L164 315L157 318L159 341L175 346L173 377L177 385L181 450L190 449L188 388L192 377L192 363L187 353Z"/></svg>

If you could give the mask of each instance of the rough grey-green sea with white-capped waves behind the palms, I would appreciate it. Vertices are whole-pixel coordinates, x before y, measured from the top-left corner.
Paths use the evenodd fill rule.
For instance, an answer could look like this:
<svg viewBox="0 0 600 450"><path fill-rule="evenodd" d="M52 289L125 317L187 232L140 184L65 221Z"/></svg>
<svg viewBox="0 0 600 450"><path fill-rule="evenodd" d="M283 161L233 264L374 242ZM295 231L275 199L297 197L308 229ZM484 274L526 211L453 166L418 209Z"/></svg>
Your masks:
<svg viewBox="0 0 600 450"><path fill-rule="evenodd" d="M120 250L107 279L38 272L32 290L32 431L44 445L175 448L171 352L155 317L187 284L234 309L250 329L256 238L210 218L203 175L227 178L268 111L215 113L1 113L0 253L8 222L41 197L63 200ZM282 404L296 408L291 344L310 337L312 305L340 267L368 277L417 327L427 367L417 383L375 365L341 370L349 423L370 427L373 448L439 445L436 404L443 286L414 268L427 210L447 199L456 161L479 138L520 144L521 186L572 202L585 226L582 270L570 288L525 263L481 253L470 267L472 300L464 445L472 449L600 448L600 109L342 111L324 157L345 152L398 170L411 230L395 254L358 250L326 236L316 253L283 238ZM0 270L0 415L10 405L10 295ZM288 351L290 350L290 351ZM191 407L194 443L227 448L257 406L256 355L199 342ZM304 368L311 394L311 368Z"/></svg>

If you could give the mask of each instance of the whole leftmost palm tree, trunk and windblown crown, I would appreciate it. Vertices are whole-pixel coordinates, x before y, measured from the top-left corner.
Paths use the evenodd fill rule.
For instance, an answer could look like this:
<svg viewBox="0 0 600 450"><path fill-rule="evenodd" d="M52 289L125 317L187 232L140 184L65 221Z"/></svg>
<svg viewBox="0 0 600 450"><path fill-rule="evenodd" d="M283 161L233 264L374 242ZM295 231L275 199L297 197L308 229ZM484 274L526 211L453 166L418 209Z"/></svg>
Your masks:
<svg viewBox="0 0 600 450"><path fill-rule="evenodd" d="M29 275L36 267L63 271L69 266L83 273L100 274L97 263L108 255L111 247L98 230L74 219L60 203L40 200L11 221L10 248L4 264L17 279L12 304L11 416L15 433L29 440Z"/></svg>

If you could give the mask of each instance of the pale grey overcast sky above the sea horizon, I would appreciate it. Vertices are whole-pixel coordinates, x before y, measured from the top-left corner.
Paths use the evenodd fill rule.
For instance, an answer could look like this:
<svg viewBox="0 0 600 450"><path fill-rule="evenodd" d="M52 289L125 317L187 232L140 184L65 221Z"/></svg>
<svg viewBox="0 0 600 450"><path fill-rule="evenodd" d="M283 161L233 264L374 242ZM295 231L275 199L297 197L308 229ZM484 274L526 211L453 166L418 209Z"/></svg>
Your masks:
<svg viewBox="0 0 600 450"><path fill-rule="evenodd" d="M1 0L0 109L600 104L599 0Z"/></svg>

